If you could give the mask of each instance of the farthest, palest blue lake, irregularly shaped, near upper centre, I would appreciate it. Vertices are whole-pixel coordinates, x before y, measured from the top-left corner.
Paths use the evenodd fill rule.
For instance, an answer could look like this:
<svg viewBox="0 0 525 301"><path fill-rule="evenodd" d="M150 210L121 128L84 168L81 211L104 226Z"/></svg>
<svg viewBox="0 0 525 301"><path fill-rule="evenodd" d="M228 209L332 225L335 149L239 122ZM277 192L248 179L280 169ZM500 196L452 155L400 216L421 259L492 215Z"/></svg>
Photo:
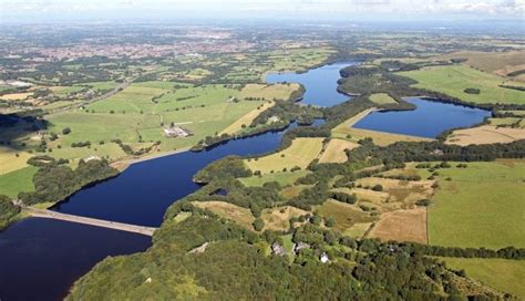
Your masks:
<svg viewBox="0 0 525 301"><path fill-rule="evenodd" d="M302 103L333 106L350 98L350 96L337 91L337 81L341 77L339 71L346 66L359 63L359 61L339 62L311 69L306 73L268 73L266 82L272 84L280 82L300 83L306 89Z"/></svg>

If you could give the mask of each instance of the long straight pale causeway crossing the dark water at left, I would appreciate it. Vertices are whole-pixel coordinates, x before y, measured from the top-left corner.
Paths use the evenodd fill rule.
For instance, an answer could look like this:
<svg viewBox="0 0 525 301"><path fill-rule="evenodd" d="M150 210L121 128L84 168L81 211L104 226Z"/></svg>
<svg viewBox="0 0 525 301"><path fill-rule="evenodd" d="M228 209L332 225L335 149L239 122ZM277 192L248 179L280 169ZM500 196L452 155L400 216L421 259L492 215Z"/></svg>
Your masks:
<svg viewBox="0 0 525 301"><path fill-rule="evenodd" d="M58 220L84 224L84 225L90 225L90 226L95 226L95 227L115 229L115 230L121 230L121 231L126 231L126 232L134 232L134 233L140 233L140 235L145 235L145 236L153 236L153 232L157 229L157 228L152 228L152 227L130 225L130 224L123 224L123 222L116 222L116 221L110 221L110 220L103 220L103 219L96 219L96 218L90 218L90 217L65 215L65 214L61 214L61 212L56 212L52 210L37 209L37 208L25 207L25 206L22 207L22 210L32 217L58 219Z"/></svg>

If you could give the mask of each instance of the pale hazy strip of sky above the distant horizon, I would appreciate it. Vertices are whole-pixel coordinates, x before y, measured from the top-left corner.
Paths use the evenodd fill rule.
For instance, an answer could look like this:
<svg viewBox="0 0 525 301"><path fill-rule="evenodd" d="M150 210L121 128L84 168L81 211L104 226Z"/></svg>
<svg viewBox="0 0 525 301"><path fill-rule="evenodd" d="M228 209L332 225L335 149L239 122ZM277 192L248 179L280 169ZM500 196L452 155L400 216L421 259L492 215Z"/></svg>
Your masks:
<svg viewBox="0 0 525 301"><path fill-rule="evenodd" d="M0 0L0 22L177 18L524 20L525 0Z"/></svg>

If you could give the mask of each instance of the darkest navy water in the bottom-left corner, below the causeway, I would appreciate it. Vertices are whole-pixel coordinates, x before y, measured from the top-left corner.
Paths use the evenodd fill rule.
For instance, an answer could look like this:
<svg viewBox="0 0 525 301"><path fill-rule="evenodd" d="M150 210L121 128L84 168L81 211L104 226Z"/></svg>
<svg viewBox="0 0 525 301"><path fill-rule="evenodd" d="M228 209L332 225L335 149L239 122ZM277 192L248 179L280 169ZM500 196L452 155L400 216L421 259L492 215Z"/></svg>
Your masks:
<svg viewBox="0 0 525 301"><path fill-rule="evenodd" d="M28 218L0 235L0 300L60 300L107 256L144 251L151 237Z"/></svg>

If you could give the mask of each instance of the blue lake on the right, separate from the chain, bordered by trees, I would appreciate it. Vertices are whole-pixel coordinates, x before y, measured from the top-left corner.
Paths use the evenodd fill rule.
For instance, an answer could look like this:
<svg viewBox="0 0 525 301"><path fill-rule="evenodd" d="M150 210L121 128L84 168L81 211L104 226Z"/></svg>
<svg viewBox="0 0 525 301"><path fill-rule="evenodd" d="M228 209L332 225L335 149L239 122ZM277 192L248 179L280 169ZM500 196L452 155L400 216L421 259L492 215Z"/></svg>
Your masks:
<svg viewBox="0 0 525 301"><path fill-rule="evenodd" d="M491 111L408 97L413 111L373 112L353 125L356 128L435 138L446 129L467 127L491 116Z"/></svg>

